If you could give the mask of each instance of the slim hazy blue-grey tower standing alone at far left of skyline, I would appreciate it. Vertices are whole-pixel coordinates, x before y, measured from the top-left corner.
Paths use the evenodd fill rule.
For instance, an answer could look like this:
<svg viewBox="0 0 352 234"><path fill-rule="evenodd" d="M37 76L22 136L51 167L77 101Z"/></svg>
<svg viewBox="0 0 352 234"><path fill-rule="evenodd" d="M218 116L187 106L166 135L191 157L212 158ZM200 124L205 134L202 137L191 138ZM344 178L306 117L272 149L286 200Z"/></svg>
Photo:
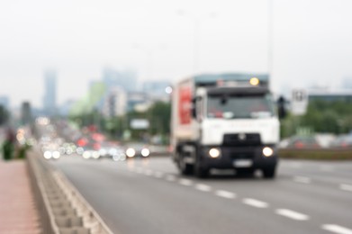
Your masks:
<svg viewBox="0 0 352 234"><path fill-rule="evenodd" d="M44 112L49 116L52 116L57 113L57 74L53 70L46 71L44 74L44 79Z"/></svg>

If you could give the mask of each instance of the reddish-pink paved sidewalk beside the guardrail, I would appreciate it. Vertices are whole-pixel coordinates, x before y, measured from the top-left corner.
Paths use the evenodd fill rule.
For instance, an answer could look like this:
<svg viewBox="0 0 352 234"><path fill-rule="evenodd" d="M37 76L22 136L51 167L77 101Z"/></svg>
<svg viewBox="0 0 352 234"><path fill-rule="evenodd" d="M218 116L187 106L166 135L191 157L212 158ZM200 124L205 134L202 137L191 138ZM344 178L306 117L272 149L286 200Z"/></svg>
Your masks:
<svg viewBox="0 0 352 234"><path fill-rule="evenodd" d="M24 160L4 162L0 158L0 233L40 233Z"/></svg>

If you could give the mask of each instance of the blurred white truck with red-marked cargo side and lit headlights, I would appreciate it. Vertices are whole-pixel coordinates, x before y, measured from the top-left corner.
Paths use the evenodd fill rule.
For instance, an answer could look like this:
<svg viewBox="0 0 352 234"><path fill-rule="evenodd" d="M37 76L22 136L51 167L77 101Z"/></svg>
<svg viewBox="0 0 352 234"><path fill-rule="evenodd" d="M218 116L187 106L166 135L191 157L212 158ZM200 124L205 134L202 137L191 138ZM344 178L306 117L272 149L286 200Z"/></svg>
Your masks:
<svg viewBox="0 0 352 234"><path fill-rule="evenodd" d="M171 119L172 157L182 174L233 168L275 177L279 121L268 76L186 78L174 86Z"/></svg>

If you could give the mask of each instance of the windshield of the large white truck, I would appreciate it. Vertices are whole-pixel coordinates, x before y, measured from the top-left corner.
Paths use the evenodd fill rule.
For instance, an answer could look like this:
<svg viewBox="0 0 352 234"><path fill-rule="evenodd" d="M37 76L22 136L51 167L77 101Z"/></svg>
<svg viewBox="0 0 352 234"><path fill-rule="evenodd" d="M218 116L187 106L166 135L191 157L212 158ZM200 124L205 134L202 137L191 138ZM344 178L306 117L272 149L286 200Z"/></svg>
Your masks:
<svg viewBox="0 0 352 234"><path fill-rule="evenodd" d="M273 115L274 106L270 94L208 96L208 118L262 119Z"/></svg>

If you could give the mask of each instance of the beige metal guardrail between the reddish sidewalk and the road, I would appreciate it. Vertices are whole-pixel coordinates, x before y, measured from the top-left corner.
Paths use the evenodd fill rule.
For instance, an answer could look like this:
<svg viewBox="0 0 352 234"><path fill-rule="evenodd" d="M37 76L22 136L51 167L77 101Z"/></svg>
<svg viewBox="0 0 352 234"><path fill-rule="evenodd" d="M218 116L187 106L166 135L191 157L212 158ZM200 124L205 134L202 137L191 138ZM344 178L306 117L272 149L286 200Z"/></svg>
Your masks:
<svg viewBox="0 0 352 234"><path fill-rule="evenodd" d="M112 234L104 221L65 175L45 161L35 148L27 166L45 234Z"/></svg>

